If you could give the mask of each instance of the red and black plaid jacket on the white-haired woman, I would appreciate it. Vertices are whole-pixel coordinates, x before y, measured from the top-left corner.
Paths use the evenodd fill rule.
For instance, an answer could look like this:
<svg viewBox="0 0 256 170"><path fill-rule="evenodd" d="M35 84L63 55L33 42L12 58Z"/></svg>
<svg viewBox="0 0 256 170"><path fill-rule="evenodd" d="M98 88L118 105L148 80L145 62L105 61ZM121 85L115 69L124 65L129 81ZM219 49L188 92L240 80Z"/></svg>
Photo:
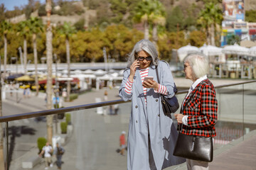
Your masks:
<svg viewBox="0 0 256 170"><path fill-rule="evenodd" d="M186 108L184 108L186 106ZM183 115L188 115L188 125L183 125L182 133L210 137L216 135L218 101L210 80L199 83L183 102Z"/></svg>

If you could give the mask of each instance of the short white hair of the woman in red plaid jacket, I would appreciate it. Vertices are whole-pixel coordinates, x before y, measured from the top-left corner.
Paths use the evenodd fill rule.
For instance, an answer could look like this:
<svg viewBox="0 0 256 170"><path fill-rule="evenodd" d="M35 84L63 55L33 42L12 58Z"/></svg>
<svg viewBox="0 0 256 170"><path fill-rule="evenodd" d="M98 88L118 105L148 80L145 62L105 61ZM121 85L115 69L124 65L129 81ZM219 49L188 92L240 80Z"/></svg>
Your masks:
<svg viewBox="0 0 256 170"><path fill-rule="evenodd" d="M185 62L188 62L188 64L191 66L193 78L198 79L209 72L208 60L201 54L188 55L184 59L184 63Z"/></svg>

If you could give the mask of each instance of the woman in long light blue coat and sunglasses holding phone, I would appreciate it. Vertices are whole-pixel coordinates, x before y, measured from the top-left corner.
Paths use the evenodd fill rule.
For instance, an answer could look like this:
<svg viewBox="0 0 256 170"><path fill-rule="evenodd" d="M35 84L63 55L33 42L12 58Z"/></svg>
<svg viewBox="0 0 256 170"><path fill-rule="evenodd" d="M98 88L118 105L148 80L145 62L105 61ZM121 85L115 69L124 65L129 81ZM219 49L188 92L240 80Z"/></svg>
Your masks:
<svg viewBox="0 0 256 170"><path fill-rule="evenodd" d="M156 68L160 82L157 82ZM154 78L144 81L145 77ZM169 64L158 59L154 44L149 40L137 42L129 54L119 89L124 101L132 100L127 169L164 169L185 161L172 154L178 133L161 106L160 94L171 98L175 89Z"/></svg>

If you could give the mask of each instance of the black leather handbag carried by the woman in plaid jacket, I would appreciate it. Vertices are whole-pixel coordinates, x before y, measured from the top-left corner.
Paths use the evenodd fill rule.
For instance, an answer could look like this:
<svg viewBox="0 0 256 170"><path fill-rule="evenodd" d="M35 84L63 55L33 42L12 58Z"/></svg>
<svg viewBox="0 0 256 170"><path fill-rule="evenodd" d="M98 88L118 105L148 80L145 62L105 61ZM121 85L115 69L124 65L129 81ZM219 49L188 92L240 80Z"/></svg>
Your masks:
<svg viewBox="0 0 256 170"><path fill-rule="evenodd" d="M185 135L178 132L174 156L203 162L213 161L213 137Z"/></svg>

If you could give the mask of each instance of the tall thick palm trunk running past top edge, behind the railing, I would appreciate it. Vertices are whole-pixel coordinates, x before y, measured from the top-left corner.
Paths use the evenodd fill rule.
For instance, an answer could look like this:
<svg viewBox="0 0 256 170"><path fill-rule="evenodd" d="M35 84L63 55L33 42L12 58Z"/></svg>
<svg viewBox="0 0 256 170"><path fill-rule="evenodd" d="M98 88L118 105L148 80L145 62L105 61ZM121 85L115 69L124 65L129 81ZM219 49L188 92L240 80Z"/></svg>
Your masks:
<svg viewBox="0 0 256 170"><path fill-rule="evenodd" d="M53 65L53 33L50 26L51 0L46 0L47 28L46 28L46 57L47 57L47 108L52 108L52 65ZM51 144L53 138L53 115L46 117L47 121L47 140Z"/></svg>

